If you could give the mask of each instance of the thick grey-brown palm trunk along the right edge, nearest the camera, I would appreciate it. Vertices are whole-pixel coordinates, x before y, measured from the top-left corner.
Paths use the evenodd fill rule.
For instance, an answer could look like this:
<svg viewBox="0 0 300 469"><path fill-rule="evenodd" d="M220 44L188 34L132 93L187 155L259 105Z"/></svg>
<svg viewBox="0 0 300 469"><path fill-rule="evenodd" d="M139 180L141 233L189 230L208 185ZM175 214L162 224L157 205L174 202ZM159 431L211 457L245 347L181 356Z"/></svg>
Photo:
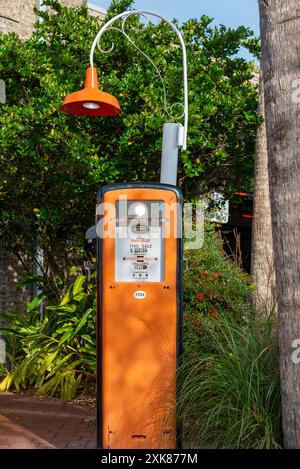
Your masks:
<svg viewBox="0 0 300 469"><path fill-rule="evenodd" d="M300 3L259 0L284 443L300 448Z"/></svg>

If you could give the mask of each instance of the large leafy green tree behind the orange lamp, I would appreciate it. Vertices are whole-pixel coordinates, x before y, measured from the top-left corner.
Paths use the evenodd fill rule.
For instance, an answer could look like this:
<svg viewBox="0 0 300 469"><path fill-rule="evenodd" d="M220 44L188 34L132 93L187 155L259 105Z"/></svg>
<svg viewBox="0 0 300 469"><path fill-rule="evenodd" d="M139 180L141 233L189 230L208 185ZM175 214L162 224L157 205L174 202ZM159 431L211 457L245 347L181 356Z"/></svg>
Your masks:
<svg viewBox="0 0 300 469"><path fill-rule="evenodd" d="M123 113L112 118L65 115L64 96L82 86L89 50L99 23L85 6L68 9L47 0L33 36L21 41L0 34L0 77L7 103L0 105L0 235L24 257L43 249L52 279L68 269L84 232L93 223L96 192L102 184L156 181L160 166L163 112L160 80L145 57L116 31L96 51L100 86L115 95ZM133 6L114 1L108 18ZM164 24L128 20L128 31L162 71L167 106L182 99L182 56ZM236 57L252 49L251 31L213 28L206 16L178 26L187 45L189 141L179 165L186 196L222 184L249 190L258 118L254 66ZM55 286L51 285L51 288ZM59 290L59 289L58 289Z"/></svg>

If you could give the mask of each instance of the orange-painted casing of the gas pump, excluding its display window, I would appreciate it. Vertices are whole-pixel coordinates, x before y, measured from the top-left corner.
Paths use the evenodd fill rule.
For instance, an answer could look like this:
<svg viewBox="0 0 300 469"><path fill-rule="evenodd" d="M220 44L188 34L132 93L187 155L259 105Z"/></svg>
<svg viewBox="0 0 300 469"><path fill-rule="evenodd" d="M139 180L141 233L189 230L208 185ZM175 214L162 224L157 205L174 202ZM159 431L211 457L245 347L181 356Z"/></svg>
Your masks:
<svg viewBox="0 0 300 469"><path fill-rule="evenodd" d="M177 201L169 190L133 188L108 191L129 200ZM113 209L110 209L114 212ZM104 239L102 288L102 448L176 448L177 259L174 237L164 239L163 282L115 282L115 239ZM115 213L109 218L115 219ZM136 299L142 290L146 297ZM100 318L101 320L101 318Z"/></svg>

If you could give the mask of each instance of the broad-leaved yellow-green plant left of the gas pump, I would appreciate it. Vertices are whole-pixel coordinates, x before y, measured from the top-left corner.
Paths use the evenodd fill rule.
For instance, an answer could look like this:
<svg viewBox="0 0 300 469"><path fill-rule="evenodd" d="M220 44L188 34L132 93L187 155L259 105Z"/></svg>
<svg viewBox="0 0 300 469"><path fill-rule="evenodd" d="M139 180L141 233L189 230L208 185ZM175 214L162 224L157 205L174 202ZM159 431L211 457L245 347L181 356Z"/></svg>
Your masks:
<svg viewBox="0 0 300 469"><path fill-rule="evenodd" d="M78 275L60 303L47 306L41 317L36 297L28 312L7 313L9 326L2 328L7 343L11 371L0 391L35 388L39 394L58 394L70 400L82 378L94 380L95 279Z"/></svg>

